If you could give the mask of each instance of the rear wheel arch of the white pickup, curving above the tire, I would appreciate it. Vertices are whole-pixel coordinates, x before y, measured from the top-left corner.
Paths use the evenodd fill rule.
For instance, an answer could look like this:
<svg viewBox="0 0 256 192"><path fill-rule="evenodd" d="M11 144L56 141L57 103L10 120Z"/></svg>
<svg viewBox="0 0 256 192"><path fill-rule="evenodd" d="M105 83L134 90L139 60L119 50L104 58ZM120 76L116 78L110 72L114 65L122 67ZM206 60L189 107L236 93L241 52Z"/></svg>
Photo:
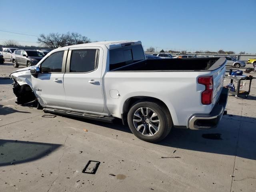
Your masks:
<svg viewBox="0 0 256 192"><path fill-rule="evenodd" d="M121 111L121 117L122 117L122 122L123 124L127 124L127 115L128 112L130 110L130 108L138 101L150 101L150 102L158 102L160 104L162 104L163 106L166 107L166 109L168 110L168 112L170 113L171 117L172 117L172 121L174 124L177 123L177 117L176 117L176 113L174 111L173 106L169 103L169 102L164 102L164 100L160 99L160 98L156 98L153 96L131 96L129 98L127 98L123 105L122 105L122 111ZM167 103L167 104L166 104Z"/></svg>

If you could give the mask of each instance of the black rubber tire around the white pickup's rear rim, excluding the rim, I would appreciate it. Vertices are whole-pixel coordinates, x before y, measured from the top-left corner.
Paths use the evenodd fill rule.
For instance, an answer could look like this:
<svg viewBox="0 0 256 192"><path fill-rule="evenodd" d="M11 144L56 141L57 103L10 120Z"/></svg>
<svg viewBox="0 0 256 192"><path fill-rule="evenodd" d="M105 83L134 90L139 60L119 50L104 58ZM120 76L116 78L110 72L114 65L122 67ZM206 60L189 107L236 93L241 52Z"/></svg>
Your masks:
<svg viewBox="0 0 256 192"><path fill-rule="evenodd" d="M134 126L134 122L133 122L134 113L142 107L147 107L154 110L154 112L156 112L158 116L158 119L160 120L160 128L158 132L156 132L152 136L144 136ZM146 142L152 142L152 143L163 140L170 133L170 130L173 126L172 117L170 115L169 110L158 102L149 102L149 101L142 101L142 100L136 102L130 108L127 119L128 119L128 125L130 127L130 130L137 138L144 140Z"/></svg>

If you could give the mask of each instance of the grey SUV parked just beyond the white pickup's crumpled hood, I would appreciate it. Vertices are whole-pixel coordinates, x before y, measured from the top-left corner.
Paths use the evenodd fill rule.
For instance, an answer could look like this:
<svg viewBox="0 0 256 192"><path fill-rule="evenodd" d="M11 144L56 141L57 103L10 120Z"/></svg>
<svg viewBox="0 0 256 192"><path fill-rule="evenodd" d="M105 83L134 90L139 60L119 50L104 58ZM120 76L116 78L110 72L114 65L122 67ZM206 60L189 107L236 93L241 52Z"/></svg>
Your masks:
<svg viewBox="0 0 256 192"><path fill-rule="evenodd" d="M27 67L36 65L44 57L43 53L37 50L15 50L12 54L11 61L14 67L19 67L19 65L25 65Z"/></svg>

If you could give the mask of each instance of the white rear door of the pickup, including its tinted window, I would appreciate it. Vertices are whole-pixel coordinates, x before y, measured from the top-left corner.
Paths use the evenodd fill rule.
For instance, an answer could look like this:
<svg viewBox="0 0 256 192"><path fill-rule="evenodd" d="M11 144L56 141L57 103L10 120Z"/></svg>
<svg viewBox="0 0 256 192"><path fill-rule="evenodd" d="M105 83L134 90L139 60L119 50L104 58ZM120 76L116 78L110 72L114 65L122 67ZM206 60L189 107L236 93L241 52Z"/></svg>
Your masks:
<svg viewBox="0 0 256 192"><path fill-rule="evenodd" d="M69 52L67 72L64 74L64 89L69 108L103 112L102 58L102 51L98 49Z"/></svg>

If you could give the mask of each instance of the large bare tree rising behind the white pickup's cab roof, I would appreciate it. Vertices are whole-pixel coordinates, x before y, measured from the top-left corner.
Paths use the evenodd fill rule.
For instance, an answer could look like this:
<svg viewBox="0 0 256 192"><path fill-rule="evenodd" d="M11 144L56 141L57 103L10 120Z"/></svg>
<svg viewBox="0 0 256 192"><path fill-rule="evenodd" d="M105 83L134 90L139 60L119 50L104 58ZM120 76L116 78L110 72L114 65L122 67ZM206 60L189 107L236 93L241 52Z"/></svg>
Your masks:
<svg viewBox="0 0 256 192"><path fill-rule="evenodd" d="M59 33L50 33L48 35L40 34L37 39L38 43L41 46L49 47L49 48L58 48L60 46L68 46L68 45L76 45L82 43L91 42L86 36L82 36L76 32L68 32L66 34Z"/></svg>

